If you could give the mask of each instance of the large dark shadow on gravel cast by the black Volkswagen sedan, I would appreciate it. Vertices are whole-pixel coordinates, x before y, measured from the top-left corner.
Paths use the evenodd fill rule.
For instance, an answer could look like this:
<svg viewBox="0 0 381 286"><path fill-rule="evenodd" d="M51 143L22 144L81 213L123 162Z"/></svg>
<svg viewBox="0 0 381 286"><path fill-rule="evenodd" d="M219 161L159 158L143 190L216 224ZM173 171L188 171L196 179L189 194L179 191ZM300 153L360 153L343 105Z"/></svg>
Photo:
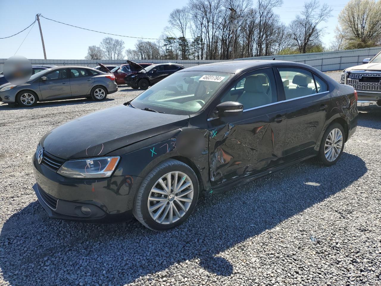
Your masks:
<svg viewBox="0 0 381 286"><path fill-rule="evenodd" d="M173 272L230 276L232 261L239 259L231 247L345 192L366 172L365 162L348 153L331 167L307 160L200 198L189 220L166 232L148 230L136 220L125 228L52 220L35 201L3 225L0 268L11 285L123 285L173 267ZM306 231L306 239L311 234L296 231ZM165 278L171 281L168 274Z"/></svg>

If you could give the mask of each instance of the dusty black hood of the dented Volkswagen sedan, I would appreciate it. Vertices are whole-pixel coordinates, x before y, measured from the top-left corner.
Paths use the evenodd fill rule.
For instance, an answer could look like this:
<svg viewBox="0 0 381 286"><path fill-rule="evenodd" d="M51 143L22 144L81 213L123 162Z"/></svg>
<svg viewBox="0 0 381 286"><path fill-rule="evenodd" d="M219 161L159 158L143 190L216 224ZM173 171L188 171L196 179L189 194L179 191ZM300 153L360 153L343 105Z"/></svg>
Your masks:
<svg viewBox="0 0 381 286"><path fill-rule="evenodd" d="M78 117L46 133L40 145L64 160L104 156L146 138L183 127L189 116L118 105Z"/></svg>

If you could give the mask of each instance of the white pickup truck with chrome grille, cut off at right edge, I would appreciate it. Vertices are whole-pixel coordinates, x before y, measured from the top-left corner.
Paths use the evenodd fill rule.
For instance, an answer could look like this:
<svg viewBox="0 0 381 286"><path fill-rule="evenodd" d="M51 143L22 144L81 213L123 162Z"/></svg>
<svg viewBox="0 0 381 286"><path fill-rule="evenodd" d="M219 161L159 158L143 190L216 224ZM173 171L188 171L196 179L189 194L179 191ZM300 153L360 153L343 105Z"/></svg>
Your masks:
<svg viewBox="0 0 381 286"><path fill-rule="evenodd" d="M351 85L359 95L359 106L381 107L381 52L359 66L344 69L341 83Z"/></svg>

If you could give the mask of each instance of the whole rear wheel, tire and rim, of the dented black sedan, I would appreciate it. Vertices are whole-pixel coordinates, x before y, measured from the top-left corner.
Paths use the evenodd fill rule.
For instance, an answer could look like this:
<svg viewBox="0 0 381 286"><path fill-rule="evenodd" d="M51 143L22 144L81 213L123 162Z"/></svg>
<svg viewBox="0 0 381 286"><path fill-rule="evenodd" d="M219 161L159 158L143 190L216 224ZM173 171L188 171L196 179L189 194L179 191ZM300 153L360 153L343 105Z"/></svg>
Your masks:
<svg viewBox="0 0 381 286"><path fill-rule="evenodd" d="M325 130L320 144L319 161L326 166L332 166L343 154L345 133L344 128L339 123L333 123ZM332 147L333 144L333 147Z"/></svg>

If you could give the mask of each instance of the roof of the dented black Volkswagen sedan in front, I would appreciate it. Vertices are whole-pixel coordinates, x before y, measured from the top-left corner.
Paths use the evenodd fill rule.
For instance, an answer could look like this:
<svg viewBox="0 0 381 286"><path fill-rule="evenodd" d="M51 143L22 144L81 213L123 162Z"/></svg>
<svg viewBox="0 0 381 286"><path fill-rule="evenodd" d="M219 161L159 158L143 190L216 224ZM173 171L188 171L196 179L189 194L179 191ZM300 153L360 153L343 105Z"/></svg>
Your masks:
<svg viewBox="0 0 381 286"><path fill-rule="evenodd" d="M295 67L307 67L315 70L311 66L306 64L295 63L292 61L274 61L274 60L238 60L238 61L223 61L218 63L201 64L199 66L192 66L183 69L184 71L212 71L212 72L227 72L236 74L238 72L250 70L256 67L264 66L295 66Z"/></svg>

